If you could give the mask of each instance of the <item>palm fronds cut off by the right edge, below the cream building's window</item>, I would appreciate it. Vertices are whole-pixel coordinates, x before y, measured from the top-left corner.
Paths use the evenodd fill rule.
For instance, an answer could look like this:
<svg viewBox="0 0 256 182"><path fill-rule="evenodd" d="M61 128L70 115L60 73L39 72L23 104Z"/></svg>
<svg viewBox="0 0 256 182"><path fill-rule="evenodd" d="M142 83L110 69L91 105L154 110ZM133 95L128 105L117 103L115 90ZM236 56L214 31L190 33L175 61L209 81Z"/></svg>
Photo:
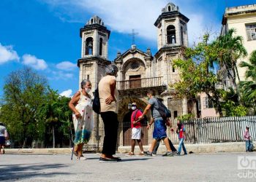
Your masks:
<svg viewBox="0 0 256 182"><path fill-rule="evenodd" d="M246 103L255 104L256 101L256 50L252 52L249 63L241 62L240 65L242 68L247 68L245 77L249 81L241 81L239 86L241 88L241 93L244 96L244 101Z"/></svg>

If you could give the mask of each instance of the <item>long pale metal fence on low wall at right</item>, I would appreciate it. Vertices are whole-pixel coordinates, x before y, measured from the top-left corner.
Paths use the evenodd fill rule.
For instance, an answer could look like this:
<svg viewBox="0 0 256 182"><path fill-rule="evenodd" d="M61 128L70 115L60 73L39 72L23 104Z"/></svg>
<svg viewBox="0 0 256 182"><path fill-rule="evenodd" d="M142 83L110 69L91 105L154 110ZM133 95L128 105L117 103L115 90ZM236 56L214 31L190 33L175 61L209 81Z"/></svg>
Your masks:
<svg viewBox="0 0 256 182"><path fill-rule="evenodd" d="M249 126L252 141L256 140L256 116L214 117L184 121L188 143L222 143L244 141Z"/></svg>

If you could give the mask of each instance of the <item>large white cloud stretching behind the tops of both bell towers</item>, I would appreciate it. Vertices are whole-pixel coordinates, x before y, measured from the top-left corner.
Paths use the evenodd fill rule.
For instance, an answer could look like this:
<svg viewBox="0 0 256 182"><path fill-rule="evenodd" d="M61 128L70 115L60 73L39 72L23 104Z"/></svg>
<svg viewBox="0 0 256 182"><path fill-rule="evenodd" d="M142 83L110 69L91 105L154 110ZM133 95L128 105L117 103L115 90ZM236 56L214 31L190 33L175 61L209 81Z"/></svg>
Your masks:
<svg viewBox="0 0 256 182"><path fill-rule="evenodd" d="M70 18L80 17L83 23L84 12L90 15L99 15L103 22L112 31L120 33L131 33L132 28L138 32L138 36L147 39L148 41L157 41L157 28L154 26L155 20L161 15L162 8L170 2L170 0L41 0L54 8L59 8L63 11L63 15L69 15ZM195 4L200 3L198 0L173 0L174 4L180 7L180 12L189 17L188 33L189 44L197 42L198 38L206 32L209 20L212 17L207 17L206 12L198 9L195 11ZM76 7L77 15L72 15L70 9ZM74 12L73 12L74 14ZM217 23L212 23L217 25ZM219 28L219 25L217 25ZM217 28L213 28L217 30Z"/></svg>

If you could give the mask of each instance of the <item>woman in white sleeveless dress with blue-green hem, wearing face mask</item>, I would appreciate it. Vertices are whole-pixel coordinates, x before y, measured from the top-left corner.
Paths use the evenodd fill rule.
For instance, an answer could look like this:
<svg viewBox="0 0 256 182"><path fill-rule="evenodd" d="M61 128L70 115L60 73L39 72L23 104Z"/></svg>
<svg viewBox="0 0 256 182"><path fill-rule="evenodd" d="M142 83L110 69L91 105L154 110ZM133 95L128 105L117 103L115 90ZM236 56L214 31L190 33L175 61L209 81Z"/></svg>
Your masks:
<svg viewBox="0 0 256 182"><path fill-rule="evenodd" d="M89 142L91 131L94 129L94 113L89 92L91 92L91 82L88 79L83 79L81 90L76 92L69 101L75 127L74 154L77 159L81 160L86 160L86 157L83 156L83 145Z"/></svg>

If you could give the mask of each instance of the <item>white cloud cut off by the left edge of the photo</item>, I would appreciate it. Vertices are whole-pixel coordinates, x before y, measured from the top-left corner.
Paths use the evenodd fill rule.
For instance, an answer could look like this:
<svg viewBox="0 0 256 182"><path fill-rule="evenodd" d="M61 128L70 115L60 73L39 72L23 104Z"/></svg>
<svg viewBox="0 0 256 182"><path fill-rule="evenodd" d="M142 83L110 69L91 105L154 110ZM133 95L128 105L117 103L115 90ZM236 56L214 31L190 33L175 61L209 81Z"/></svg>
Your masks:
<svg viewBox="0 0 256 182"><path fill-rule="evenodd" d="M12 49L12 46L3 46L0 43L0 65L10 60L20 60L18 54Z"/></svg>

